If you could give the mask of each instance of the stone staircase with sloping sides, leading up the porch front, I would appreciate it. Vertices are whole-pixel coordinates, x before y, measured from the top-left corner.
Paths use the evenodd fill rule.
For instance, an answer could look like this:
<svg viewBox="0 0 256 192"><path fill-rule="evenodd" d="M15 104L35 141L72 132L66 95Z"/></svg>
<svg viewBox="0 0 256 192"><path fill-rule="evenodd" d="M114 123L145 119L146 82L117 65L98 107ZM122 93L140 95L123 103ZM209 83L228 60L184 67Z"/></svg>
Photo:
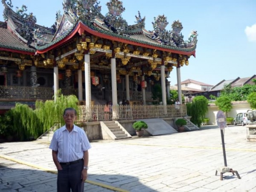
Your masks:
<svg viewBox="0 0 256 192"><path fill-rule="evenodd" d="M103 140L121 140L131 138L131 135L118 121L101 121Z"/></svg>

